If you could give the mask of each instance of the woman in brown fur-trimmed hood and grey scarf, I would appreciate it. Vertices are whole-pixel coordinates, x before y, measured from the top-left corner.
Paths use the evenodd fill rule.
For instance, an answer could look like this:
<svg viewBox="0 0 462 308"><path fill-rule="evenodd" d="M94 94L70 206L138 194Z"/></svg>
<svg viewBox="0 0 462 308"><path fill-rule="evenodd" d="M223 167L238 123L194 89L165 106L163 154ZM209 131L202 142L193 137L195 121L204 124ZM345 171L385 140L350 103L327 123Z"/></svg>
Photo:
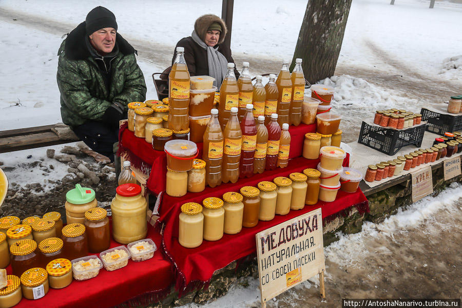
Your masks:
<svg viewBox="0 0 462 308"><path fill-rule="evenodd" d="M175 47L172 65L177 56L177 47L184 47L184 59L191 76L208 75L216 79L214 86L220 88L226 76L226 65L233 62L231 49L222 44L226 36L224 21L213 14L203 15L194 23L191 36L182 38ZM236 78L239 77L235 69Z"/></svg>

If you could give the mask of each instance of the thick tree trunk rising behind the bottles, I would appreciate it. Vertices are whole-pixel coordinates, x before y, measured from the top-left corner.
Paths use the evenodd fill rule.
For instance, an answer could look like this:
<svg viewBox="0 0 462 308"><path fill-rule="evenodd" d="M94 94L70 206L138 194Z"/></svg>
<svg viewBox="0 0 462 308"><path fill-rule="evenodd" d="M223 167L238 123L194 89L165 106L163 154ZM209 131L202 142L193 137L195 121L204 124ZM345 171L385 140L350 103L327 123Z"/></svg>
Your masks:
<svg viewBox="0 0 462 308"><path fill-rule="evenodd" d="M334 74L352 0L310 0L298 35L295 59L303 59L305 79L310 83Z"/></svg>

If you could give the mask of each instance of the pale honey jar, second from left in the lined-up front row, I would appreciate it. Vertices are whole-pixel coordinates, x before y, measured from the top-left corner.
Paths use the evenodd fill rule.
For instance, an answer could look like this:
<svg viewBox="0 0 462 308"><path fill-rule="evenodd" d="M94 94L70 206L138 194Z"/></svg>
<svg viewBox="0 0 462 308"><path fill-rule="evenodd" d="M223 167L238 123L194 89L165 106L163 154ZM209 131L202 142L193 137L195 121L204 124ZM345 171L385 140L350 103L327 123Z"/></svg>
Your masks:
<svg viewBox="0 0 462 308"><path fill-rule="evenodd" d="M202 201L204 215L204 240L218 241L223 237L224 208L223 200L215 197Z"/></svg>

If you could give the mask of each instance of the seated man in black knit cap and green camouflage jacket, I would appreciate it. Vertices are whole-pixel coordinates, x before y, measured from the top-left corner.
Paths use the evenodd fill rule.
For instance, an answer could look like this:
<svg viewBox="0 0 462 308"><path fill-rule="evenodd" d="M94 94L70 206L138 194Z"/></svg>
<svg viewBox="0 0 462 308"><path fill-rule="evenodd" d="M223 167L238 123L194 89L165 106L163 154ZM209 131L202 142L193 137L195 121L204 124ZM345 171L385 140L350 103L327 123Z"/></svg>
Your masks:
<svg viewBox="0 0 462 308"><path fill-rule="evenodd" d="M146 99L135 53L117 32L114 14L101 6L69 33L58 52L56 78L63 122L111 161L128 103Z"/></svg>

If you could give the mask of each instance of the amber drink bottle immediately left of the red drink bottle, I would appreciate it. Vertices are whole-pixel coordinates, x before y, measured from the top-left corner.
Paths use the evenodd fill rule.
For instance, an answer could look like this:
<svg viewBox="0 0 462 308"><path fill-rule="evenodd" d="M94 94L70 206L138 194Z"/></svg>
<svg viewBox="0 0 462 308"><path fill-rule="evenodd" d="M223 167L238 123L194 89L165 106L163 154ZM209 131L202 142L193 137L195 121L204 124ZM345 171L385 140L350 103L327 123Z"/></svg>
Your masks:
<svg viewBox="0 0 462 308"><path fill-rule="evenodd" d="M237 118L237 107L230 110L230 118L226 124L223 148L223 164L221 180L223 183L236 183L239 179L239 160L241 159L242 131Z"/></svg>

